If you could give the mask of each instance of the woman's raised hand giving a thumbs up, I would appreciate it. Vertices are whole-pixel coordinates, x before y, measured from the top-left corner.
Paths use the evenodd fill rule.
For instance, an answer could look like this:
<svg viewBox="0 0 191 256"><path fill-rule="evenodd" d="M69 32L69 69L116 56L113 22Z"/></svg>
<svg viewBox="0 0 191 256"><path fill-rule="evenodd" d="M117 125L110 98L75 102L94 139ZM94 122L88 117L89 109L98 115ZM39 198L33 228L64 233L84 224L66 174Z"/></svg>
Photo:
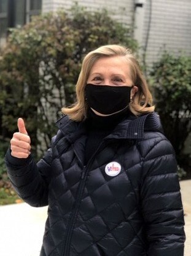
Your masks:
<svg viewBox="0 0 191 256"><path fill-rule="evenodd" d="M25 128L25 122L18 118L18 133L14 133L10 140L11 155L20 159L26 159L31 154L31 139Z"/></svg>

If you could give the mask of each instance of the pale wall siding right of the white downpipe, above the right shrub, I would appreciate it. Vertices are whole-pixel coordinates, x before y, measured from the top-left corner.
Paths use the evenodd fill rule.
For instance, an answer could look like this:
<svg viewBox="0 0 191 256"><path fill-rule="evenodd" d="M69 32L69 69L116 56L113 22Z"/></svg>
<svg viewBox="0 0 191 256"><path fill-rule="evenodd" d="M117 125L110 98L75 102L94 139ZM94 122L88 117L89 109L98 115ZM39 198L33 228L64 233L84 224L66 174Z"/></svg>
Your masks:
<svg viewBox="0 0 191 256"><path fill-rule="evenodd" d="M146 45L150 1L146 1L142 47ZM155 62L164 49L191 54L191 1L153 0L146 63Z"/></svg>

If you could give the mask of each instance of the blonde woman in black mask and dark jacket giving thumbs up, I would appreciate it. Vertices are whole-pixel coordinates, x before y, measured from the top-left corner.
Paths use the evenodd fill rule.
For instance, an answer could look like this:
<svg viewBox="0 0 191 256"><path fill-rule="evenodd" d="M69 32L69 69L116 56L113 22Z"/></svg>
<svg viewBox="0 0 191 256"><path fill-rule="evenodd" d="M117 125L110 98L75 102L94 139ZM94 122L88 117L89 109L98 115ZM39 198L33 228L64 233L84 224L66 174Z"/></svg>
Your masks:
<svg viewBox="0 0 191 256"><path fill-rule="evenodd" d="M183 256L177 163L138 62L125 47L99 47L76 94L42 160L21 118L6 155L18 195L49 205L41 256Z"/></svg>

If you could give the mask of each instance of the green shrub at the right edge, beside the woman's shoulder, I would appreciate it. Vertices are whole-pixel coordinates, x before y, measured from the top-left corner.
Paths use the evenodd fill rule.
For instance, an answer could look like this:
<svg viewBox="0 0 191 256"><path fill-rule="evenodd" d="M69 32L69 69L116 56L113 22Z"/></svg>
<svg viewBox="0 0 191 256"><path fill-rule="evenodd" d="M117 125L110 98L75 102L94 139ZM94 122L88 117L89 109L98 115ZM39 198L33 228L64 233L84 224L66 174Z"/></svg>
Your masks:
<svg viewBox="0 0 191 256"><path fill-rule="evenodd" d="M164 52L150 72L156 110L163 128L181 160L191 132L191 58Z"/></svg>

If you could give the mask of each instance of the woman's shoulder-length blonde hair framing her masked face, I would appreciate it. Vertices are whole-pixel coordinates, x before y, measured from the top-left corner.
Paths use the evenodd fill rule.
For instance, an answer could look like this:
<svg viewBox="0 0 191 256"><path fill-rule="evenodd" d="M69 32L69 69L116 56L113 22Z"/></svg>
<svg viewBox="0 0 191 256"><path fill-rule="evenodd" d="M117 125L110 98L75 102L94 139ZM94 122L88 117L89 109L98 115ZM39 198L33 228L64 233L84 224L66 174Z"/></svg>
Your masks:
<svg viewBox="0 0 191 256"><path fill-rule="evenodd" d="M71 120L80 122L87 117L87 103L85 102L85 86L87 85L88 76L96 60L102 57L123 56L130 65L131 80L133 85L138 87L138 91L133 96L133 101L129 107L134 115L146 114L153 112L155 107L152 105L152 95L144 76L142 75L138 61L135 59L130 49L116 44L101 46L91 51L85 56L82 62L82 69L76 84L77 101L71 107L63 107L63 114L68 115Z"/></svg>

